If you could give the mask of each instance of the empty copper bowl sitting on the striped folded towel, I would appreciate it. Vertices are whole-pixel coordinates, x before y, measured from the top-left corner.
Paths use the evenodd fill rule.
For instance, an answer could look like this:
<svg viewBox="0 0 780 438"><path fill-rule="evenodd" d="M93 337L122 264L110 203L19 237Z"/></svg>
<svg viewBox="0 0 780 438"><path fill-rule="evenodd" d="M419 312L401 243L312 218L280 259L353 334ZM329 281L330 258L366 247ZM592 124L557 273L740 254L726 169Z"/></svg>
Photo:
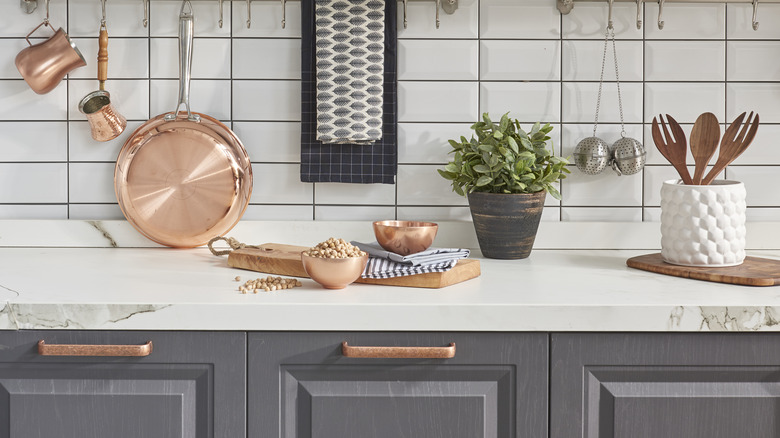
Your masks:
<svg viewBox="0 0 780 438"><path fill-rule="evenodd" d="M379 245L387 251L404 256L428 249L436 238L438 229L439 226L433 222L374 222L374 235Z"/></svg>

